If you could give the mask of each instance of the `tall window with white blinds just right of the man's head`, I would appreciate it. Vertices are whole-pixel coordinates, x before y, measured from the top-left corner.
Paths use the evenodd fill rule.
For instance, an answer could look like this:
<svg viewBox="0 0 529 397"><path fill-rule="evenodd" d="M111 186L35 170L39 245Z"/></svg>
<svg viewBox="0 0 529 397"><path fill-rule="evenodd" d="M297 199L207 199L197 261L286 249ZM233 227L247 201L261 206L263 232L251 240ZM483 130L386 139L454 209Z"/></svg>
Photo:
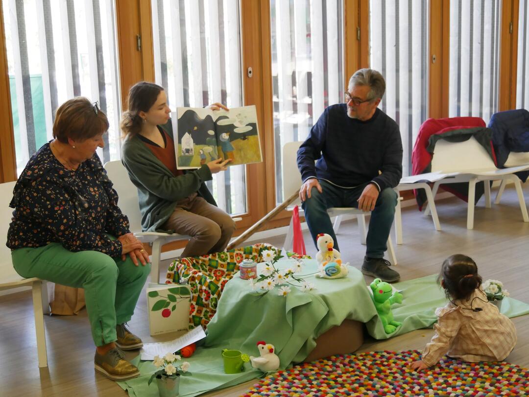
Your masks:
<svg viewBox="0 0 529 397"><path fill-rule="evenodd" d="M427 118L428 5L422 0L369 2L369 61L386 79L379 107L400 127L403 175L411 171L413 145Z"/></svg>

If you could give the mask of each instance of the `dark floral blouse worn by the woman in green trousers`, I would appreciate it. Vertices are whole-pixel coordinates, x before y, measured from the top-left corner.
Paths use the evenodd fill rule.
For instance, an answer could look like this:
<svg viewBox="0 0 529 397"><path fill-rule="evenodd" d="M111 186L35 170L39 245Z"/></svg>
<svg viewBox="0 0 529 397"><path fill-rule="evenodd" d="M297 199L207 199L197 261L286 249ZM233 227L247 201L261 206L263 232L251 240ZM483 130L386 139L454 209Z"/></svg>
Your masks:
<svg viewBox="0 0 529 397"><path fill-rule="evenodd" d="M13 190L13 219L7 233L12 250L61 243L72 252L99 251L121 255L110 237L129 233L129 219L117 207L97 154L70 171L44 144L24 168Z"/></svg>

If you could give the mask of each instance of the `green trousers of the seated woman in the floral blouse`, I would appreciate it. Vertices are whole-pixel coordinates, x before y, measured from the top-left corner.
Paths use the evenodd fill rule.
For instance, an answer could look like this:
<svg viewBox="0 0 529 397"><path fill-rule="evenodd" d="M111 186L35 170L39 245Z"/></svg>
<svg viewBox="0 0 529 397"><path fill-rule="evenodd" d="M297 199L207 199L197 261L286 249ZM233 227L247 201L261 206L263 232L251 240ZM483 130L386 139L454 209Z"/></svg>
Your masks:
<svg viewBox="0 0 529 397"><path fill-rule="evenodd" d="M129 321L150 265L135 266L98 251L71 252L59 243L12 251L13 266L22 277L38 277L68 287L84 288L86 310L96 346L117 339L116 324Z"/></svg>

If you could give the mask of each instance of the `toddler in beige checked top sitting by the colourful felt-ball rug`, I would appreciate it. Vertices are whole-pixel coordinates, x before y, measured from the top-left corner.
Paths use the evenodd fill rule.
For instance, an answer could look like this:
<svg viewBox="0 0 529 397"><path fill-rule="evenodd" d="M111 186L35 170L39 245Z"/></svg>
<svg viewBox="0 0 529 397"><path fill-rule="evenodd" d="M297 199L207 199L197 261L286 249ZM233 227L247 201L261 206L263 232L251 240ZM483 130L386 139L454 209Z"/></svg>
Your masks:
<svg viewBox="0 0 529 397"><path fill-rule="evenodd" d="M435 311L435 335L411 367L424 370L445 354L469 362L503 361L516 345L516 328L487 301L476 263L452 255L443 262L439 281L450 302Z"/></svg>

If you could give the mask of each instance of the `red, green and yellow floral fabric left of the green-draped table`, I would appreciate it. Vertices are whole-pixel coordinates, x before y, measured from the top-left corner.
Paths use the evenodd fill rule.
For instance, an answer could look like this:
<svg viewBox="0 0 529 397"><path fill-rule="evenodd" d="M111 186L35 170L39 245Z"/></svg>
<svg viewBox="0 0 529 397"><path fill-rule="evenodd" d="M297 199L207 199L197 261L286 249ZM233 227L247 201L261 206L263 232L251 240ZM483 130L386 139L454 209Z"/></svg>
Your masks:
<svg viewBox="0 0 529 397"><path fill-rule="evenodd" d="M261 243L215 254L180 258L169 265L166 284L189 283L190 286L189 329L198 325L207 326L215 315L224 285L239 271L239 264L245 259L263 262L261 253L265 250L281 254L279 248ZM287 252L287 256L309 258L291 252Z"/></svg>

